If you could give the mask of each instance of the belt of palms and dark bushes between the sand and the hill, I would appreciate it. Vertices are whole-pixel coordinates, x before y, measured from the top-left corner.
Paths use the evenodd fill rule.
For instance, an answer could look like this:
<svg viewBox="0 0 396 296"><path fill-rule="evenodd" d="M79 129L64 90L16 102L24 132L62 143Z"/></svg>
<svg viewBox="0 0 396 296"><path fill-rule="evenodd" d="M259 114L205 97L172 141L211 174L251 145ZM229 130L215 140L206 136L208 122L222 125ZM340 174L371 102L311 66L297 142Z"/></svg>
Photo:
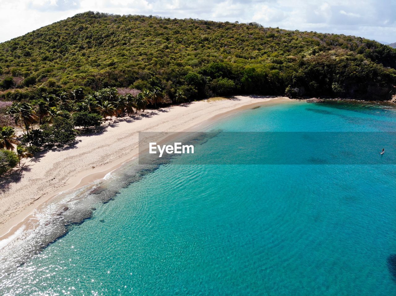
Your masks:
<svg viewBox="0 0 396 296"><path fill-rule="evenodd" d="M180 91L176 93L177 102L185 99ZM13 168L13 163L16 165L15 159L19 159L20 165L21 158L31 157L42 149L73 143L79 133L77 128L87 132L101 126L108 117L144 112L149 104L156 107L163 100L164 94L158 87L143 91L112 87L92 94L75 89L59 96L45 94L31 102L0 102L0 175ZM11 120L23 130L19 140L15 128L4 124ZM12 151L15 151L14 158L9 157Z"/></svg>

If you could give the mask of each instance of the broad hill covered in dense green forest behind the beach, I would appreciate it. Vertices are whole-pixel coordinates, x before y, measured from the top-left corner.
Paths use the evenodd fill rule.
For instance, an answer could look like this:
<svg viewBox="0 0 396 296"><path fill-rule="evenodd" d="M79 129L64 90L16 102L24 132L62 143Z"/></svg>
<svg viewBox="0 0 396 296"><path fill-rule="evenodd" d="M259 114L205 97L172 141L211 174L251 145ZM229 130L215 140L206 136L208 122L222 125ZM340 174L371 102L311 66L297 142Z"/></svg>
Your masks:
<svg viewBox="0 0 396 296"><path fill-rule="evenodd" d="M364 38L86 12L0 44L0 95L160 87L172 100L287 94L387 100L396 49Z"/></svg>

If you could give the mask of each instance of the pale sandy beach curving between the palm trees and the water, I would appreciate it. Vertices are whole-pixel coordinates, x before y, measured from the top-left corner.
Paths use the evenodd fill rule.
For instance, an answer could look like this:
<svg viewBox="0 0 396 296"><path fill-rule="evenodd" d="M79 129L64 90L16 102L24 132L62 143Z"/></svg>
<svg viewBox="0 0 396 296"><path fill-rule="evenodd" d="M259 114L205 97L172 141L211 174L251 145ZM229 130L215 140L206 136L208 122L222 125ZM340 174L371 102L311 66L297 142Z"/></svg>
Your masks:
<svg viewBox="0 0 396 296"><path fill-rule="evenodd" d="M139 132L200 130L240 109L288 100L237 96L146 110L143 115L107 121L100 132L78 136L72 147L46 151L38 158L28 159L21 163L23 170L15 174L16 180L7 182L0 191L0 239L14 233L32 218L36 207L59 192L101 179L137 155Z"/></svg>

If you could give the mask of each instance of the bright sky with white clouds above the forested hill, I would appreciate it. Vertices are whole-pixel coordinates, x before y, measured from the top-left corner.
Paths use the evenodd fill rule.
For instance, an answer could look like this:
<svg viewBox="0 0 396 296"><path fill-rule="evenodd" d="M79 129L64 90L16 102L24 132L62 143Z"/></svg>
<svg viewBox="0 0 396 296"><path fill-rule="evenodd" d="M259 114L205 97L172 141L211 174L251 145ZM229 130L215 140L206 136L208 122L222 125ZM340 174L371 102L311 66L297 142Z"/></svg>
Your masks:
<svg viewBox="0 0 396 296"><path fill-rule="evenodd" d="M0 0L0 42L84 11L213 21L396 42L396 0Z"/></svg>

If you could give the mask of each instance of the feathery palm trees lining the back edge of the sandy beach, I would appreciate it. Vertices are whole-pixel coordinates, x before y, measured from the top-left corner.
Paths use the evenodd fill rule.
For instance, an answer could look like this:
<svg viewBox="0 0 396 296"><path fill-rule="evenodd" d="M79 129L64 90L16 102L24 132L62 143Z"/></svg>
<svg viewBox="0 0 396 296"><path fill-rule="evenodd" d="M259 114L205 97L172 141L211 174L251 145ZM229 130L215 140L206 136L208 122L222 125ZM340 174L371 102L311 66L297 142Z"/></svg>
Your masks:
<svg viewBox="0 0 396 296"><path fill-rule="evenodd" d="M183 92L177 92L176 102L183 102L185 99ZM80 112L80 118L81 116L88 118L91 114L99 117L96 119L99 122L100 117L104 120L110 117L112 120L113 117L123 117L126 114L131 116L138 111L144 112L147 106L156 107L163 100L164 94L159 87L143 91L124 89L122 94L119 94L115 87L111 87L88 95L84 94L83 89L74 89L69 94L66 92L59 95L44 94L41 98L30 102L14 102L6 113L15 119L15 124L20 124L25 136L19 143L13 127L0 126L0 149L15 151L20 163L21 158L32 157L32 152L39 150L34 149L40 146L38 139L44 127L48 128L57 118L59 119L56 121L69 120L74 124L73 126L78 124L77 121L73 121L74 115L71 116L71 113L77 112ZM40 129L37 127L34 129L34 124L39 124Z"/></svg>

